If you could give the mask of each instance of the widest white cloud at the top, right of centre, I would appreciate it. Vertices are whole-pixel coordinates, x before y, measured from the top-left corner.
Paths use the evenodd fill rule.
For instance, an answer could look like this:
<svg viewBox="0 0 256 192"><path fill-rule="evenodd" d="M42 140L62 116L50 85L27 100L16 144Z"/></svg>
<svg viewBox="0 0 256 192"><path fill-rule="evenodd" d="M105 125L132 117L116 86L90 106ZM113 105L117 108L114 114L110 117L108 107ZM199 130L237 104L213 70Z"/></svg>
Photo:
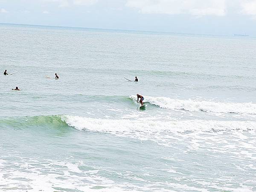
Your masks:
<svg viewBox="0 0 256 192"><path fill-rule="evenodd" d="M226 15L226 0L128 0L126 6L144 14Z"/></svg>

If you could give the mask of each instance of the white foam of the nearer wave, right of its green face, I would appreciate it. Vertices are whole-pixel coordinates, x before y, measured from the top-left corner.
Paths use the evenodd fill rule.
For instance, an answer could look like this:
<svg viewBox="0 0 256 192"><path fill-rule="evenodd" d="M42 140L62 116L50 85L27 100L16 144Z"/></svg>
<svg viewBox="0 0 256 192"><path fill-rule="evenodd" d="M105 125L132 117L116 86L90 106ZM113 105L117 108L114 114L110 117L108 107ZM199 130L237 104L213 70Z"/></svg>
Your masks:
<svg viewBox="0 0 256 192"><path fill-rule="evenodd" d="M251 121L156 121L156 120L128 120L128 119L94 119L81 116L65 115L61 119L67 125L78 130L99 132L186 132L186 131L231 131L255 130L256 122Z"/></svg>

